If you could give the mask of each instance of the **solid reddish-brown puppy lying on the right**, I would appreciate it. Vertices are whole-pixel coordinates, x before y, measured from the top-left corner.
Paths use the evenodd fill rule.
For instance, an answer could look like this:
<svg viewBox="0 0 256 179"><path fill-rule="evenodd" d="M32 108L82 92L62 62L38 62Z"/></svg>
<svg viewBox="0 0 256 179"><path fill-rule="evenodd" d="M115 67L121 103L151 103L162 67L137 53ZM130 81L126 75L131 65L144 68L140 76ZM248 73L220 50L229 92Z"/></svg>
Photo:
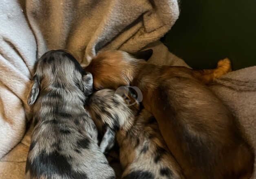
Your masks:
<svg viewBox="0 0 256 179"><path fill-rule="evenodd" d="M193 70L157 66L123 51L99 54L86 67L97 89L137 86L144 107L152 112L168 148L191 179L249 178L254 154L235 119L196 78ZM138 59L139 58L139 59Z"/></svg>

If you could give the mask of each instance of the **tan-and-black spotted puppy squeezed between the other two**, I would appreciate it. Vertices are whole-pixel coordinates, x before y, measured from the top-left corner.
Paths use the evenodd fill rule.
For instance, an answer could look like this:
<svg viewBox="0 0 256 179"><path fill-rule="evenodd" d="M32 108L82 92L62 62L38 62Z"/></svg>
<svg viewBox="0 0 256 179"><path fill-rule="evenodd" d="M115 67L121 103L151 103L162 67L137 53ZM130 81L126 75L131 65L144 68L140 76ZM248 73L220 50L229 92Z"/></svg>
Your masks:
<svg viewBox="0 0 256 179"><path fill-rule="evenodd" d="M130 108L111 89L95 92L88 109L99 131L106 129L100 144L102 152L119 145L123 179L183 179L179 164L168 150L152 114L138 114L138 104Z"/></svg>

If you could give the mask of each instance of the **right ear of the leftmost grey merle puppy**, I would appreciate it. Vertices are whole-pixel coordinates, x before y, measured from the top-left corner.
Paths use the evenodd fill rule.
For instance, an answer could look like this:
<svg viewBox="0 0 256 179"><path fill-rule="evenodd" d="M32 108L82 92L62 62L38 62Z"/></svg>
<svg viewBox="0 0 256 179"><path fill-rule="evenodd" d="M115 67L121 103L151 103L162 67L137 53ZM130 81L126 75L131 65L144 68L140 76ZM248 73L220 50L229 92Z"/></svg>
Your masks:
<svg viewBox="0 0 256 179"><path fill-rule="evenodd" d="M86 96L93 93L93 75L90 72L82 76L82 91Z"/></svg>

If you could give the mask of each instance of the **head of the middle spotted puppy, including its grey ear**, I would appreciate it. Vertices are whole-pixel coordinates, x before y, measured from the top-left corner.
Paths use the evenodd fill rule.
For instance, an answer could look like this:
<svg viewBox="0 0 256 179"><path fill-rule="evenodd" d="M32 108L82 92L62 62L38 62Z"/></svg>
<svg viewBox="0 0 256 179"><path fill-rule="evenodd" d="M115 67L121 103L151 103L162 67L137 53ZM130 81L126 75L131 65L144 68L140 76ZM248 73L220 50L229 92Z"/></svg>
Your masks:
<svg viewBox="0 0 256 179"><path fill-rule="evenodd" d="M123 97L112 89L102 89L90 96L86 106L100 134L101 151L109 151L115 144L115 133L130 129L134 112L126 105Z"/></svg>

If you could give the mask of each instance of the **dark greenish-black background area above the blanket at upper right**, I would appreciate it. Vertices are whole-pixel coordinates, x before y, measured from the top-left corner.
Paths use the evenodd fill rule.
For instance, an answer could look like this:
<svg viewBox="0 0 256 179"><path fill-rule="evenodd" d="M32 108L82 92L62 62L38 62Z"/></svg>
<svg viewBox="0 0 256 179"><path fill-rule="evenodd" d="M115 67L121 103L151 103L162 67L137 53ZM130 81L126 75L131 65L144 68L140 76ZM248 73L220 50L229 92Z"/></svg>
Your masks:
<svg viewBox="0 0 256 179"><path fill-rule="evenodd" d="M256 65L256 0L181 0L181 13L161 39L195 69L228 57L233 70Z"/></svg>

